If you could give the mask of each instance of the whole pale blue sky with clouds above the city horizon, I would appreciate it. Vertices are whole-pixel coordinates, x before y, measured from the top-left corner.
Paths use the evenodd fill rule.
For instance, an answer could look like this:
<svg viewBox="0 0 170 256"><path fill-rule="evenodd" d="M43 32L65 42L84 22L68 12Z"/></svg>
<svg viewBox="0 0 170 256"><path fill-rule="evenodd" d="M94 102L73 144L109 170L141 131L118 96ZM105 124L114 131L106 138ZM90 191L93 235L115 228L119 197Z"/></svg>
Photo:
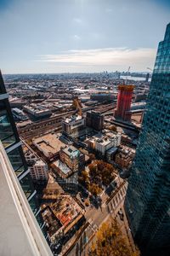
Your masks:
<svg viewBox="0 0 170 256"><path fill-rule="evenodd" d="M146 72L168 0L0 0L3 73Z"/></svg>

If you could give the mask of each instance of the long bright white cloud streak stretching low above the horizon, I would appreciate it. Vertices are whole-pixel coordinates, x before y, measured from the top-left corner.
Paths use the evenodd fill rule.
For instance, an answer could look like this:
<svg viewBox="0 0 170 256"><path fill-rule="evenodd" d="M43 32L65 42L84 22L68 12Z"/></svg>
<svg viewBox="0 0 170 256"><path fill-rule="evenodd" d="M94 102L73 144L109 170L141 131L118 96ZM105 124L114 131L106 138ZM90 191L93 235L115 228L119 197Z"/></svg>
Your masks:
<svg viewBox="0 0 170 256"><path fill-rule="evenodd" d="M75 35L76 36L76 35ZM39 61L79 65L82 67L100 67L145 70L152 67L156 49L140 48L104 48L104 49L72 49L58 55L41 55Z"/></svg>

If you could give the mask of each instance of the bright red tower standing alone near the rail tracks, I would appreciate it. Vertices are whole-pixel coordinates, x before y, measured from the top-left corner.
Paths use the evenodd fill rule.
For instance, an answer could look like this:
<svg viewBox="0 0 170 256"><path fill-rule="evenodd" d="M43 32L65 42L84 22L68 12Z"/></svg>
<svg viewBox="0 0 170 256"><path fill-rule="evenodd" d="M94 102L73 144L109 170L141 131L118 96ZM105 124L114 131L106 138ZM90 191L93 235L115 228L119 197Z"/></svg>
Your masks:
<svg viewBox="0 0 170 256"><path fill-rule="evenodd" d="M121 84L118 86L118 96L116 103L115 117L125 121L131 119L131 102L133 96L133 85Z"/></svg>

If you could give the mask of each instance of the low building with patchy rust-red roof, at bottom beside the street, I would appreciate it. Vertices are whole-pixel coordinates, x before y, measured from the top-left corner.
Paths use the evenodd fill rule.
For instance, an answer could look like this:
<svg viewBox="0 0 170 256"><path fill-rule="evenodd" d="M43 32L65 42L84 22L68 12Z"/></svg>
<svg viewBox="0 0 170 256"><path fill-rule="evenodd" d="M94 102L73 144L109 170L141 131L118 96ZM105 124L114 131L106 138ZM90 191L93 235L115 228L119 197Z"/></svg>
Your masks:
<svg viewBox="0 0 170 256"><path fill-rule="evenodd" d="M50 241L56 244L65 235L74 234L84 212L71 195L56 195L56 189L54 191L50 189L49 194L46 189L45 193L43 195L45 201L42 202L42 218L46 223Z"/></svg>

